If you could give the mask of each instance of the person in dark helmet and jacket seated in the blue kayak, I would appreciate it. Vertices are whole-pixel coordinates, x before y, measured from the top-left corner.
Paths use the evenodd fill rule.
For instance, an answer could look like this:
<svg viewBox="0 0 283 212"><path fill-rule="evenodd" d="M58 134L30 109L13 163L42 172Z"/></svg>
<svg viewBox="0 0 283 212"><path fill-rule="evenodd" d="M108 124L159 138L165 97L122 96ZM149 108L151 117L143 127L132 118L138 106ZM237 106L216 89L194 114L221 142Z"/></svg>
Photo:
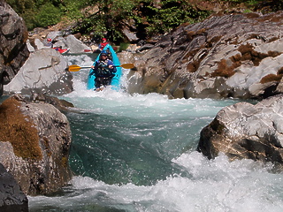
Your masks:
<svg viewBox="0 0 283 212"><path fill-rule="evenodd" d="M99 60L97 60L91 66L92 72L90 74L95 74L95 90L103 90L104 87L111 85L111 80L117 72L116 68L113 66L113 62L108 58L108 53L101 53Z"/></svg>

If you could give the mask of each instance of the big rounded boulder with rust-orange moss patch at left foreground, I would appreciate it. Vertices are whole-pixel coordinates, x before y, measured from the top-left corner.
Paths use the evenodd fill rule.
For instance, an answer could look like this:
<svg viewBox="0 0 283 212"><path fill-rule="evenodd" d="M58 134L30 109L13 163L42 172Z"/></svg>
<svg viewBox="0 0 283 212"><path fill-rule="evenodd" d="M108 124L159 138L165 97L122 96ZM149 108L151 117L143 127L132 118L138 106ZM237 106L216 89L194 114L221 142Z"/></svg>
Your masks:
<svg viewBox="0 0 283 212"><path fill-rule="evenodd" d="M0 105L0 163L28 195L57 191L71 179L70 125L65 115L43 102L19 95Z"/></svg>

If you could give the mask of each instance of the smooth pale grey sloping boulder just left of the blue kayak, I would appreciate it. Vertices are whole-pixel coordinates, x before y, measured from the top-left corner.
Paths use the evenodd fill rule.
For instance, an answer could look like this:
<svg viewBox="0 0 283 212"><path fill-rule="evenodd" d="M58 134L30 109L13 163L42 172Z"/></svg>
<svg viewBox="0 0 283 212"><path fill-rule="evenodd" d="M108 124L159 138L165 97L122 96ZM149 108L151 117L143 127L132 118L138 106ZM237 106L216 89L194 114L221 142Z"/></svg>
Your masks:
<svg viewBox="0 0 283 212"><path fill-rule="evenodd" d="M19 73L4 86L6 93L64 95L73 91L67 60L55 49L35 50Z"/></svg>

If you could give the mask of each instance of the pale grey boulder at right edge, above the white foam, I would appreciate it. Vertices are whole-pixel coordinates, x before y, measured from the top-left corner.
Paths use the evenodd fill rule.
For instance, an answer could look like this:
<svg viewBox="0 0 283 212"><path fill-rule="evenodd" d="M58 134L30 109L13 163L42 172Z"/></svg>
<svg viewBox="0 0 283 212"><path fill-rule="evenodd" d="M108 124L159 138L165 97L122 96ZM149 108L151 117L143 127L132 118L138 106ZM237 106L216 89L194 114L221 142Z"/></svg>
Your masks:
<svg viewBox="0 0 283 212"><path fill-rule="evenodd" d="M239 102L220 110L203 128L198 150L208 158L249 158L283 164L283 95L253 105Z"/></svg>

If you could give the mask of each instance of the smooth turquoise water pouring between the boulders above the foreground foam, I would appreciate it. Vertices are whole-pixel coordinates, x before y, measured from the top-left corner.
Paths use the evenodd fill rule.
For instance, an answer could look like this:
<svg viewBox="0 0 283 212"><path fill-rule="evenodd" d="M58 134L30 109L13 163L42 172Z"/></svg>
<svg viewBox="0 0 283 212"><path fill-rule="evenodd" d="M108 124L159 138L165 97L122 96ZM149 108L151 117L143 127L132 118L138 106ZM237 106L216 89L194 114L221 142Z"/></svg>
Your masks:
<svg viewBox="0 0 283 212"><path fill-rule="evenodd" d="M215 106L213 101L170 101L158 95L113 100L113 95L82 98L92 110L68 115L73 125L70 164L75 173L107 184L137 186L151 186L176 173L190 176L172 159L195 150L202 126L211 120L209 108L215 113L221 102ZM202 104L199 109L196 102Z"/></svg>

